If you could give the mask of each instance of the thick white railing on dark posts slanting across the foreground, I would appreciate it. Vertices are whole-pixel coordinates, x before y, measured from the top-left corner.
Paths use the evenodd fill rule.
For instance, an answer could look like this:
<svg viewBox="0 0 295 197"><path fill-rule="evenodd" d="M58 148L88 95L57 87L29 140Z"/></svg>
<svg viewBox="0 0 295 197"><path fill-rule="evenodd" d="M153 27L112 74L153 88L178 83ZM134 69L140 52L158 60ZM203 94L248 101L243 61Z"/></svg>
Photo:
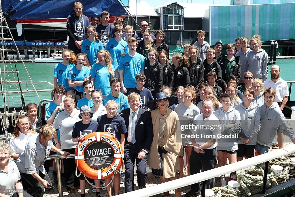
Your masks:
<svg viewBox="0 0 295 197"><path fill-rule="evenodd" d="M282 149L271 151L266 154L258 155L256 157L252 157L252 158L249 158L249 159L246 159L243 161L239 161L236 163L232 163L229 165L218 167L218 168L215 168L212 170L200 172L198 174L186 176L186 177L176 179L176 180L171 180L166 183L153 185L148 188L143 188L143 189L128 192L128 193L123 193L123 194L118 195L118 197L130 197L130 196L148 197L148 196L158 195L158 194L161 194L161 193L164 193L167 191L171 191L171 190L174 190L177 188L186 187L186 186L192 185L194 183L199 183L199 182L211 179L211 178L219 177L224 174L235 172L237 170L242 170L244 168L247 168L247 167L250 167L253 165L257 165L257 164L260 164L263 162L266 162L266 166L268 166L268 161L270 161L272 159L276 159L276 158L284 156L284 155L287 155L287 154L291 154L293 152L295 152L295 145L287 146ZM266 172L267 172L267 170L266 170ZM266 181L263 181L263 184L266 184ZM205 185L206 184L204 184L202 187L202 196L203 196L203 193L205 192L205 188L206 188Z"/></svg>

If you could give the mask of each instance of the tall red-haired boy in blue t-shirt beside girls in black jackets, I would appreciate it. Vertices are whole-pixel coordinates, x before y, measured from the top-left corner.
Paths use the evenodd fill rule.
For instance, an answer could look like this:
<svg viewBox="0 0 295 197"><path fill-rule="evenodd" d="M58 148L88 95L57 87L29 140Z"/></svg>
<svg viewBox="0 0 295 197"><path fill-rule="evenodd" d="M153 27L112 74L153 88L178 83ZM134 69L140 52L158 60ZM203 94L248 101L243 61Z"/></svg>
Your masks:
<svg viewBox="0 0 295 197"><path fill-rule="evenodd" d="M122 80L122 92L124 94L127 94L132 88L136 87L135 76L137 74L145 74L145 58L135 52L136 48L136 38L129 38L129 53L120 59L118 70L120 79Z"/></svg>

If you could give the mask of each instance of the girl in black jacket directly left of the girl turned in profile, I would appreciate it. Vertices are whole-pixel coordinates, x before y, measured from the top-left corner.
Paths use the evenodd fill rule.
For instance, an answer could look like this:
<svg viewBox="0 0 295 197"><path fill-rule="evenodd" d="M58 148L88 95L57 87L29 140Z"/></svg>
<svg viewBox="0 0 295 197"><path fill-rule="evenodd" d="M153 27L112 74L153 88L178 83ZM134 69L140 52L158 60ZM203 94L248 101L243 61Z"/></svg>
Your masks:
<svg viewBox="0 0 295 197"><path fill-rule="evenodd" d="M163 85L173 89L174 70L168 58L168 53L166 51L160 51L159 62L163 66Z"/></svg>

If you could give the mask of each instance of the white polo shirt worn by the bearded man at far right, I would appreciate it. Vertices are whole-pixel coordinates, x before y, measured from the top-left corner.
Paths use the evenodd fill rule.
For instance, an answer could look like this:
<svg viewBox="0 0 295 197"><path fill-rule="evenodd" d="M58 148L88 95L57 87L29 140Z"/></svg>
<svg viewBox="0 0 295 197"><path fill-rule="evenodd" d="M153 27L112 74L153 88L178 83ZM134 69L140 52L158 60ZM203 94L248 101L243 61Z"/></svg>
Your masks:
<svg viewBox="0 0 295 197"><path fill-rule="evenodd" d="M276 98L273 100L274 102L282 102L284 97L289 96L287 82L281 77L276 83L271 79L266 80L263 84L263 89L268 89L270 87L276 91Z"/></svg>

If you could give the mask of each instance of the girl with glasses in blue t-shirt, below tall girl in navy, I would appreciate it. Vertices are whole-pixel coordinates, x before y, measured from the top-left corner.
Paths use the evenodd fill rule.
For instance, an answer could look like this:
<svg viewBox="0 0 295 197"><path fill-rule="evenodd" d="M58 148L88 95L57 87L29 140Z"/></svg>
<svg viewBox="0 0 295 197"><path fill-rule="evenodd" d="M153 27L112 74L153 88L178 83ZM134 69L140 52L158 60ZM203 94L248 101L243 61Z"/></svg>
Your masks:
<svg viewBox="0 0 295 197"><path fill-rule="evenodd" d="M93 66L93 64L95 64L97 60L97 53L100 50L103 50L104 46L99 40L98 34L92 25L87 27L87 35L89 36L89 38L83 40L81 45L81 53L87 55L88 62L86 63L89 63L88 66Z"/></svg>

